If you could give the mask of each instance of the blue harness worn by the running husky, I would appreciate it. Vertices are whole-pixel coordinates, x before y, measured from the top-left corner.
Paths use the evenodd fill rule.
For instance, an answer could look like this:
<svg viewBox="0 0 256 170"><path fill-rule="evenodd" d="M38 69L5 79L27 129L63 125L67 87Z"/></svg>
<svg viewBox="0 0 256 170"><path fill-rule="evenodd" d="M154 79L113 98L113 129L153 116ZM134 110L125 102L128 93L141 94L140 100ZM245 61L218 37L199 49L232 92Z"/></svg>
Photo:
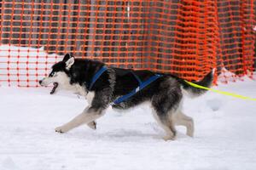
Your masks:
<svg viewBox="0 0 256 170"><path fill-rule="evenodd" d="M107 66L102 66L102 68L96 72L96 74L91 79L89 90L93 87L96 80L102 76L102 73L107 71L107 69L108 69ZM142 82L141 79L139 77L137 77L137 75L133 71L131 71L131 73L137 79L137 82L139 82L139 86L137 88L133 89L129 94L125 94L125 95L119 97L118 99L115 99L113 101L113 103L111 103L110 105L118 105L118 104L122 103L126 99L131 98L131 96L133 96L134 94L137 94L137 92L139 92L143 88L146 88L151 82L154 82L156 79L163 76L160 74L155 74L153 77L149 77L146 81Z"/></svg>

